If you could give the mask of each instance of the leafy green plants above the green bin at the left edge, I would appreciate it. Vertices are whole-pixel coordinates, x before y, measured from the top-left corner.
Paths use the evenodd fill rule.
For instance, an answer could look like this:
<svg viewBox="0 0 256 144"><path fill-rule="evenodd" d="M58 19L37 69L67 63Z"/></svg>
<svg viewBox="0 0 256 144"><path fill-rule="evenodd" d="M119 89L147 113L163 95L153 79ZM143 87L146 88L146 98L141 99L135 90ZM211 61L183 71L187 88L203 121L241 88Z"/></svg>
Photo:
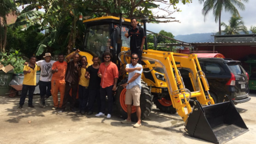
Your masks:
<svg viewBox="0 0 256 144"><path fill-rule="evenodd" d="M21 52L16 51L14 53L0 53L1 65L7 66L12 65L14 67L14 73L23 72L23 65L25 60L21 58Z"/></svg>

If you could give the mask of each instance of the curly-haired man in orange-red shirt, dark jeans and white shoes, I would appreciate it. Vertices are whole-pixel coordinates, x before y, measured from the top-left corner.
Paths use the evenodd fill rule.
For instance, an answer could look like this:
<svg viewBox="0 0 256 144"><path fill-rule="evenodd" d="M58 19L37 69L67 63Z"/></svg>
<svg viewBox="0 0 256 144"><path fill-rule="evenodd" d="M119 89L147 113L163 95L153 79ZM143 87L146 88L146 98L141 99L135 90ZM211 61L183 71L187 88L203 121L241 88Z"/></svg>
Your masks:
<svg viewBox="0 0 256 144"><path fill-rule="evenodd" d="M105 102L106 96L108 96L108 115L107 118L111 118L111 112L113 107L113 94L112 91L116 91L118 82L118 67L111 62L112 54L105 52L103 54L104 63L100 64L98 77L101 78L100 83L100 97L101 97L101 110L95 115L96 117L105 116Z"/></svg>

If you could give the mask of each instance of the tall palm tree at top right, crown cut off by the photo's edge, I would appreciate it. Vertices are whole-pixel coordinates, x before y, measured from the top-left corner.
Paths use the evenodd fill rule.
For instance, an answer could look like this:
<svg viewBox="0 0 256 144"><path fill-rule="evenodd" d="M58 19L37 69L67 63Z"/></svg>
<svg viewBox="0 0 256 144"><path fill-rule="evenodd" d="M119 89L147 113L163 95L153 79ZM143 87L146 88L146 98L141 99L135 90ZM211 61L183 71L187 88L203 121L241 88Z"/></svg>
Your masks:
<svg viewBox="0 0 256 144"><path fill-rule="evenodd" d="M235 6L240 8L241 10L245 9L244 4L242 3L248 2L249 0L199 0L200 3L204 3L204 7L202 9L202 14L204 15L204 20L206 20L207 14L213 10L213 14L215 16L215 22L219 21L219 35L221 35L221 12L225 10L226 12L230 12L233 15L239 15L238 10Z"/></svg>

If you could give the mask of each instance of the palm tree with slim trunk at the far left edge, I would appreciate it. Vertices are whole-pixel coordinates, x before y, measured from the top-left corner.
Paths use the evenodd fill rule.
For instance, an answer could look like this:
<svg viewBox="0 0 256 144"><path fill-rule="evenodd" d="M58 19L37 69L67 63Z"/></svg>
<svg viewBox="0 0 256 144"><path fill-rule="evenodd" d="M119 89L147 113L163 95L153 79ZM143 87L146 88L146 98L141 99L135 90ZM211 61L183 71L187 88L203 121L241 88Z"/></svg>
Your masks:
<svg viewBox="0 0 256 144"><path fill-rule="evenodd" d="M17 8L14 4L13 0L0 0L0 52L5 52L5 46L7 41L7 16L9 14L13 14L17 12ZM2 22L3 29L2 31ZM4 39L2 40L2 35L4 35Z"/></svg>

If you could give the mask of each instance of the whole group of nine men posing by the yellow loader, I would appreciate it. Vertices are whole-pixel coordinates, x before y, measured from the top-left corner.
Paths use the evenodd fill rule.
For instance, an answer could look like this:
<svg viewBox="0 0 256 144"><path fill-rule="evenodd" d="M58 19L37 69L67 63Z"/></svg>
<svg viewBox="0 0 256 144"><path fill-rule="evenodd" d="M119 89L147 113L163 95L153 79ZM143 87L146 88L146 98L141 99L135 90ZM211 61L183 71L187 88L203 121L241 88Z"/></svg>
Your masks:
<svg viewBox="0 0 256 144"><path fill-rule="evenodd" d="M136 19L131 19L131 29L125 33L125 37L131 37L131 64L127 64L125 71L129 72L127 83L120 85L127 89L125 104L127 105L128 118L121 123L131 123L131 104L136 107L138 122L134 127L141 126L141 110L139 99L141 93L141 73L142 65L138 64L141 60L142 50L145 42L145 33L142 28L137 26ZM51 95L53 97L54 106L52 110L59 109L58 113L65 111L66 105L70 102L70 111L85 114L87 105L88 113L93 113L93 104L97 100L98 112L96 117L105 116L106 96L108 97L107 117L111 118L113 95L112 91L116 91L118 82L118 67L111 62L112 54L105 52L103 54L104 62L99 65L99 57L94 56L93 65L88 65L85 56L80 57L79 50L70 54L66 61L64 55L58 55L58 61L51 60L51 54L45 53L44 60L36 62L34 56L30 57L29 62L25 63L23 73L23 87L20 98L20 106L22 108L28 93L28 106L34 108L33 93L36 86L36 71L40 73L39 89L40 101L42 108L46 108L45 100ZM138 54L137 54L138 53ZM70 60L73 59L73 60ZM100 90L100 91L98 91ZM58 92L60 92L60 102L58 101ZM75 110L76 94L78 92L79 111Z"/></svg>

